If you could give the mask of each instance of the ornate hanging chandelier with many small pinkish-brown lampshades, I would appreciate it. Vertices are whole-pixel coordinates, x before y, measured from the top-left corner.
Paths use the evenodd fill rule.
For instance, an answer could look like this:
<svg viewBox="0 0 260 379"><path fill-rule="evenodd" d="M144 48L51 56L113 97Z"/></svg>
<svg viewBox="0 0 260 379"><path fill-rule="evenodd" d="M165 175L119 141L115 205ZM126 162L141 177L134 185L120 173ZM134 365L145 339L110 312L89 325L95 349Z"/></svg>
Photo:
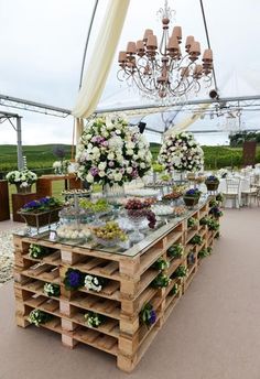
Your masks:
<svg viewBox="0 0 260 379"><path fill-rule="evenodd" d="M171 35L169 31L173 13L165 0L164 8L158 11L162 21L159 45L156 35L147 29L142 40L128 42L127 50L119 53L118 79L126 80L151 99L180 100L188 93L198 93L202 82L207 87L212 84L212 50L205 50L198 63L201 44L188 35L182 54L182 28L174 26Z"/></svg>

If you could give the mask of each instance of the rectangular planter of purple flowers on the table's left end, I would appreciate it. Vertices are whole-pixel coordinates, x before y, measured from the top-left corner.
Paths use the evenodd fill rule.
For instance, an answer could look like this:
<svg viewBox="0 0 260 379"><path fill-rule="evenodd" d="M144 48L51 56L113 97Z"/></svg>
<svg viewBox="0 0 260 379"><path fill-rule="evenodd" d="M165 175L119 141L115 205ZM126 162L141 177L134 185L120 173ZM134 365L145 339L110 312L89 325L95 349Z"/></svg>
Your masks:
<svg viewBox="0 0 260 379"><path fill-rule="evenodd" d="M62 209L62 202L55 197L42 197L26 203L18 213L25 220L28 226L40 227L57 223L58 212Z"/></svg>

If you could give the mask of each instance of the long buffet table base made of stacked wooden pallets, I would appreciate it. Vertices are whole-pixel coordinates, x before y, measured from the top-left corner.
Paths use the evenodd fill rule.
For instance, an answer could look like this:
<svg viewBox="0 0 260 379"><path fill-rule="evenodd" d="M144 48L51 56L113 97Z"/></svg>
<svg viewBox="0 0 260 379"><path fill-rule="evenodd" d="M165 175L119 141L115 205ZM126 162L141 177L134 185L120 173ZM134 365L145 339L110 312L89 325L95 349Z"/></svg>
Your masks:
<svg viewBox="0 0 260 379"><path fill-rule="evenodd" d="M61 334L65 346L73 348L83 343L101 349L116 356L118 367L130 372L191 284L201 263L198 252L213 246L217 231L199 225L208 215L209 201L206 199L182 217L165 219L141 242L128 248L62 242L53 240L52 231L34 237L14 235L17 324L26 327L32 310L44 311L53 317L41 326ZM191 217L197 219L196 226L188 227ZM195 235L201 236L202 245L191 243ZM29 255L31 243L46 247L51 253L33 259ZM167 250L176 243L183 245L184 253L174 259ZM153 266L159 258L169 263L162 271L172 278L166 288L151 286L161 272ZM181 267L186 274L175 277ZM64 285L68 269L105 278L107 283L99 292L85 288L69 291ZM45 282L61 284L61 297L46 296ZM140 321L140 312L148 303L156 313L150 327ZM89 327L84 321L84 313L89 311L106 316L106 322L99 327Z"/></svg>

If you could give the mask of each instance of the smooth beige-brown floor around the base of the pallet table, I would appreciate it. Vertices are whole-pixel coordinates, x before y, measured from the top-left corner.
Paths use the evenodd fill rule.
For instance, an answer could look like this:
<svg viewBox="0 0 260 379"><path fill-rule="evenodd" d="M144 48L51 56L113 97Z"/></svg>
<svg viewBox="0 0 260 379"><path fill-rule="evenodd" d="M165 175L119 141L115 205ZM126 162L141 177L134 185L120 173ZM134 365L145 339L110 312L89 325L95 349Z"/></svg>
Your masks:
<svg viewBox="0 0 260 379"><path fill-rule="evenodd" d="M0 379L259 379L260 208L230 209L205 259L131 375L113 357L41 328L14 326L12 283L0 289Z"/></svg>

